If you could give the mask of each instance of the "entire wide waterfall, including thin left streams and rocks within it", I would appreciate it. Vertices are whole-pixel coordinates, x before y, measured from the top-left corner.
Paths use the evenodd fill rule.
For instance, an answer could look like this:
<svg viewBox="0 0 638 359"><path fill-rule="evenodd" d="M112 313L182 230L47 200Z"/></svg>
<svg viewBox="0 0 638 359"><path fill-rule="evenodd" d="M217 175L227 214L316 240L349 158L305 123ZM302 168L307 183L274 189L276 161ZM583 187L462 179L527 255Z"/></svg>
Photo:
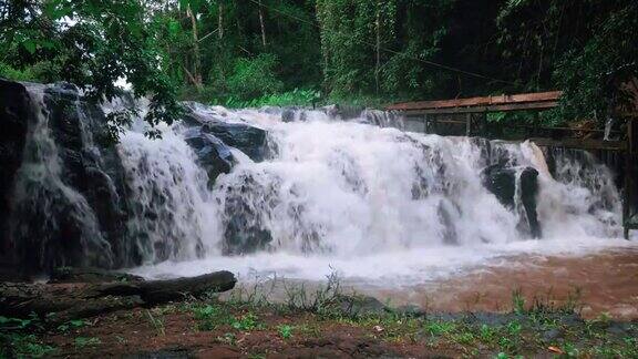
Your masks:
<svg viewBox="0 0 638 359"><path fill-rule="evenodd" d="M30 96L44 110L40 92L31 88ZM145 265L136 270L151 276L228 268L321 278L335 268L428 278L619 236L613 175L583 152L407 133L391 126L400 117L379 111L188 106L161 140L133 126L115 152L93 145L94 124L81 125L78 155L62 154L68 144L49 134L47 111L33 116L12 239L32 236L16 234L40 216L55 227L44 237L90 258L78 263ZM89 121L86 109L78 111ZM109 178L93 191L102 195L64 177L74 164L66 157ZM59 212L66 216L52 215ZM70 236L81 244L62 240L60 227L78 232Z"/></svg>

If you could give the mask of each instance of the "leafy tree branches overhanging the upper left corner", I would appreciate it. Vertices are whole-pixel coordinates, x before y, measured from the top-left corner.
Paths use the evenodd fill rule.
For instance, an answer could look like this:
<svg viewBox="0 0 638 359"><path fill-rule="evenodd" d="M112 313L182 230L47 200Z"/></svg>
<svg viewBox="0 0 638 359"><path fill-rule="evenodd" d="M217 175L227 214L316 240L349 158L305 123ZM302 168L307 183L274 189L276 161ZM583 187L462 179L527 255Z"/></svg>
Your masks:
<svg viewBox="0 0 638 359"><path fill-rule="evenodd" d="M75 83L94 101L117 96L115 82L124 78L136 95L151 98L151 126L171 123L181 106L161 66L147 7L134 0L9 0L0 8L2 62L41 68L35 80ZM109 120L116 137L130 117L113 113Z"/></svg>

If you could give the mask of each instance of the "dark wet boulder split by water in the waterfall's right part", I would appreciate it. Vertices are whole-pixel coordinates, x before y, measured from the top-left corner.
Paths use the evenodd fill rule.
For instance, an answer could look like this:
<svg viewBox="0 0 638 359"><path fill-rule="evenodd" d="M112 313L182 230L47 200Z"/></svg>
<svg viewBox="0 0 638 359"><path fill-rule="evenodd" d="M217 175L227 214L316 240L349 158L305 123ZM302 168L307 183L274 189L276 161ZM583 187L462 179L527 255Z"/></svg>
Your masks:
<svg viewBox="0 0 638 359"><path fill-rule="evenodd" d="M517 173L518 193L516 191ZM518 229L534 238L542 236L541 224L536 212L536 196L538 194L538 171L533 167L516 170L503 163L494 164L483 171L483 185L493 193L498 202L511 211L519 211L521 220ZM516 196L519 196L516 198ZM516 208L516 199L521 201L522 208Z"/></svg>

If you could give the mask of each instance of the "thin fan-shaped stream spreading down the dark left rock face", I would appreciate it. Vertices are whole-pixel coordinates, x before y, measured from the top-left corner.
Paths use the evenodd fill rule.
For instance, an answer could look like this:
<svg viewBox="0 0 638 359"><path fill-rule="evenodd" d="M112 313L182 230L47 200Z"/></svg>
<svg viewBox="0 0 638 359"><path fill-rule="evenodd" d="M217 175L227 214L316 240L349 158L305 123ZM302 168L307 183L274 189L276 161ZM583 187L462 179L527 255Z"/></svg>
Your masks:
<svg viewBox="0 0 638 359"><path fill-rule="evenodd" d="M45 266L44 260L55 266L64 266L69 260L111 266L111 246L94 212L86 198L63 178L60 148L49 126L51 111L44 104L44 86L33 85L29 90L33 106L12 197L11 237L21 244L23 252L38 254L41 263L37 266ZM80 114L78 106L69 111ZM66 256L60 257L62 252Z"/></svg>

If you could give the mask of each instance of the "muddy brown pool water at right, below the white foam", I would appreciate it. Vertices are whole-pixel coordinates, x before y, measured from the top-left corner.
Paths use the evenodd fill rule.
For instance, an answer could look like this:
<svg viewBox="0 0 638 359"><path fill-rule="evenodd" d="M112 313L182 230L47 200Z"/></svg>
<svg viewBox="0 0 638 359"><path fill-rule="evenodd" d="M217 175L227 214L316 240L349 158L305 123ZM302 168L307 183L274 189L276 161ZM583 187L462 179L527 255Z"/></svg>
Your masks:
<svg viewBox="0 0 638 359"><path fill-rule="evenodd" d="M281 280L259 288L243 285L238 290L285 301L291 288L313 293L319 284ZM506 312L519 293L525 305L573 305L585 318L607 315L618 320L638 320L638 248L607 249L580 257L516 256L498 266L481 266L461 274L415 286L383 287L342 284L344 291L375 297L392 307L418 306L426 311ZM237 294L237 291L235 291ZM296 294L299 295L298 293Z"/></svg>

